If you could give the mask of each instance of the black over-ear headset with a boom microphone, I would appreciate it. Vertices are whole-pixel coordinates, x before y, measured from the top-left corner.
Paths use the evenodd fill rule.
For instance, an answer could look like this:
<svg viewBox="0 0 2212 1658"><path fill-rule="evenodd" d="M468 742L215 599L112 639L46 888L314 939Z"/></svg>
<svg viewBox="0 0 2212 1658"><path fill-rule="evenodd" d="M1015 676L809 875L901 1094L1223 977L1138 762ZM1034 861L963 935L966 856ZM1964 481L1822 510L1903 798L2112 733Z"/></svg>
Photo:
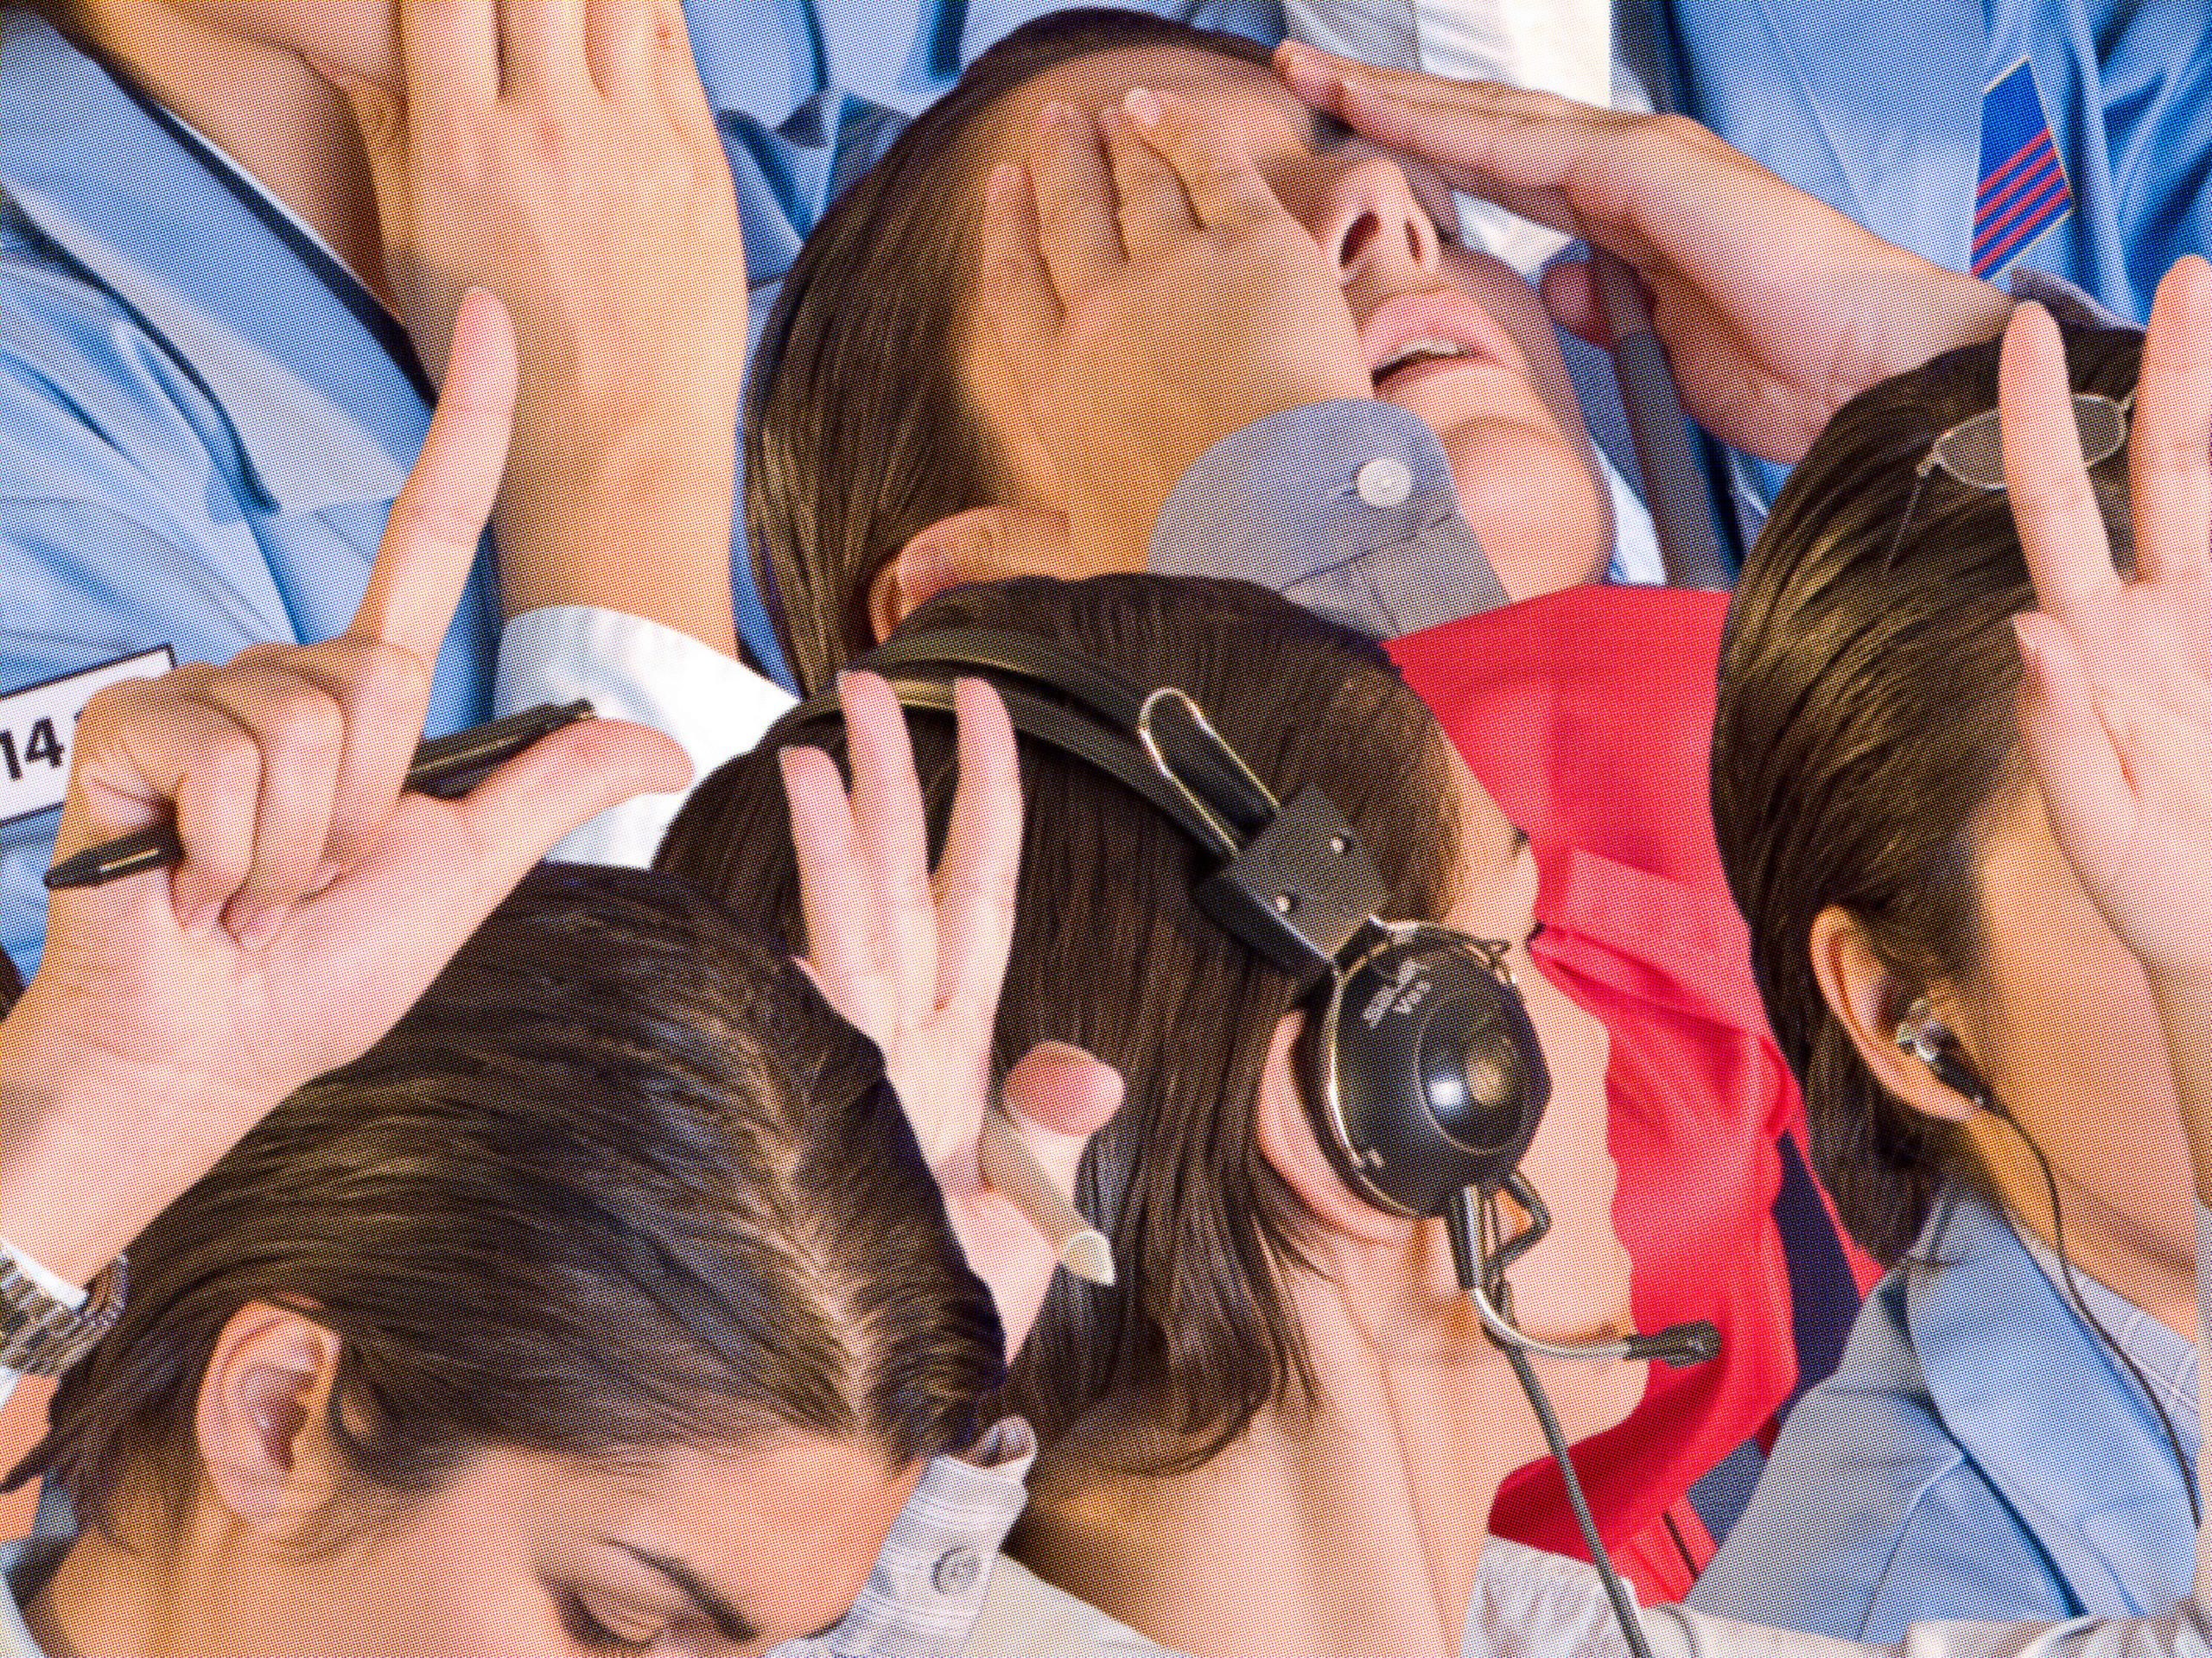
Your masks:
<svg viewBox="0 0 2212 1658"><path fill-rule="evenodd" d="M1387 922L1389 893L1352 825L1318 789L1287 802L1181 690L1139 690L1110 665L1029 634L949 628L854 661L902 707L951 714L953 681L975 676L1015 732L1117 778L1219 860L1192 902L1290 973L1307 1006L1298 1048L1314 1136L1343 1180L1398 1216L1444 1216L1462 1282L1502 1342L1557 1357L1710 1357L1710 1324L1619 1342L1522 1335L1475 1278L1478 1203L1511 1192L1531 1225L1482 1245L1480 1278L1526 1251L1548 1216L1520 1176L1551 1101L1551 1070L1506 944L1449 926ZM832 696L794 725L838 718Z"/></svg>

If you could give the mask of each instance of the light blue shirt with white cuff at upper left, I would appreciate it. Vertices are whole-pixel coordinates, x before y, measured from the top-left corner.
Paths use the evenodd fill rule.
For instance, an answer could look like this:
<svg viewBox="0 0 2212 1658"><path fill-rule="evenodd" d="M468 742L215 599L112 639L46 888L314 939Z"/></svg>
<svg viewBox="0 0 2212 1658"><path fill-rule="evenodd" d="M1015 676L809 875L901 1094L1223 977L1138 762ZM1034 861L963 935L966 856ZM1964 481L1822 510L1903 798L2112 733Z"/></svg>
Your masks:
<svg viewBox="0 0 2212 1658"><path fill-rule="evenodd" d="M164 646L228 661L343 630L429 424L400 325L219 150L18 9L0 192L0 696ZM787 701L637 617L555 606L502 637L480 562L427 730L573 694L699 769ZM670 809L644 796L562 851L650 856ZM53 829L0 825L0 946L24 973Z"/></svg>

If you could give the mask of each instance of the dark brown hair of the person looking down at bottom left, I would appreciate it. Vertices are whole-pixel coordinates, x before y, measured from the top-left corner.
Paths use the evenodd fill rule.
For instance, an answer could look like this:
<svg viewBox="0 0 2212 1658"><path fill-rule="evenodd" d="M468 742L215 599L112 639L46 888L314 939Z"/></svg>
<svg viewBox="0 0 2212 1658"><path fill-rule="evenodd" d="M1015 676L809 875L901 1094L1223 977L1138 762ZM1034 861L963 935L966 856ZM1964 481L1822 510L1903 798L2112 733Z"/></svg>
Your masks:
<svg viewBox="0 0 2212 1658"><path fill-rule="evenodd" d="M250 1302L343 1337L341 1510L487 1446L794 1430L905 1468L964 1446L1002 1379L874 1048L641 871L533 875L385 1041L164 1209L15 1481L53 1477L88 1525L177 1514L201 1373Z"/></svg>

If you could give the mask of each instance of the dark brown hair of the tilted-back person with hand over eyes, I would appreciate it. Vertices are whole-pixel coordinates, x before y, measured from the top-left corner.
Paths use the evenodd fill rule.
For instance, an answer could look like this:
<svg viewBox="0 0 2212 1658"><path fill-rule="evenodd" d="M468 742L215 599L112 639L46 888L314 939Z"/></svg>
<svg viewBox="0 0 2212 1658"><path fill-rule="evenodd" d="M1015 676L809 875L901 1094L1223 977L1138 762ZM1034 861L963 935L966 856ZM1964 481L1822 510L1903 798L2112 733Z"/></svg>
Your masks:
<svg viewBox="0 0 2212 1658"><path fill-rule="evenodd" d="M1137 11L1037 18L898 135L783 279L752 358L745 535L810 694L874 643L869 584L909 539L1006 504L998 442L962 376L991 113L1055 64L1121 46L1270 62L1241 35Z"/></svg>

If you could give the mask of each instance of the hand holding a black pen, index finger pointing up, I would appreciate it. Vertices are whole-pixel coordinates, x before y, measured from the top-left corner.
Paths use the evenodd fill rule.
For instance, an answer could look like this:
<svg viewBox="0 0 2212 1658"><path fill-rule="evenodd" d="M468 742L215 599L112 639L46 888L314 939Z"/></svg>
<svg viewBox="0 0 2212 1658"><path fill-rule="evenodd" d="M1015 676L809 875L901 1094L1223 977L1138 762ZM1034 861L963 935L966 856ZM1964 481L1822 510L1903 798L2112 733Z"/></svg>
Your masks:
<svg viewBox="0 0 2212 1658"><path fill-rule="evenodd" d="M184 862L53 893L4 1021L0 1214L58 1271L88 1276L270 1105L389 1030L566 827L681 783L666 738L586 723L462 800L400 794L513 396L513 332L476 294L347 632L84 710L55 851L175 814ZM69 1180L71 1158L91 1174Z"/></svg>

